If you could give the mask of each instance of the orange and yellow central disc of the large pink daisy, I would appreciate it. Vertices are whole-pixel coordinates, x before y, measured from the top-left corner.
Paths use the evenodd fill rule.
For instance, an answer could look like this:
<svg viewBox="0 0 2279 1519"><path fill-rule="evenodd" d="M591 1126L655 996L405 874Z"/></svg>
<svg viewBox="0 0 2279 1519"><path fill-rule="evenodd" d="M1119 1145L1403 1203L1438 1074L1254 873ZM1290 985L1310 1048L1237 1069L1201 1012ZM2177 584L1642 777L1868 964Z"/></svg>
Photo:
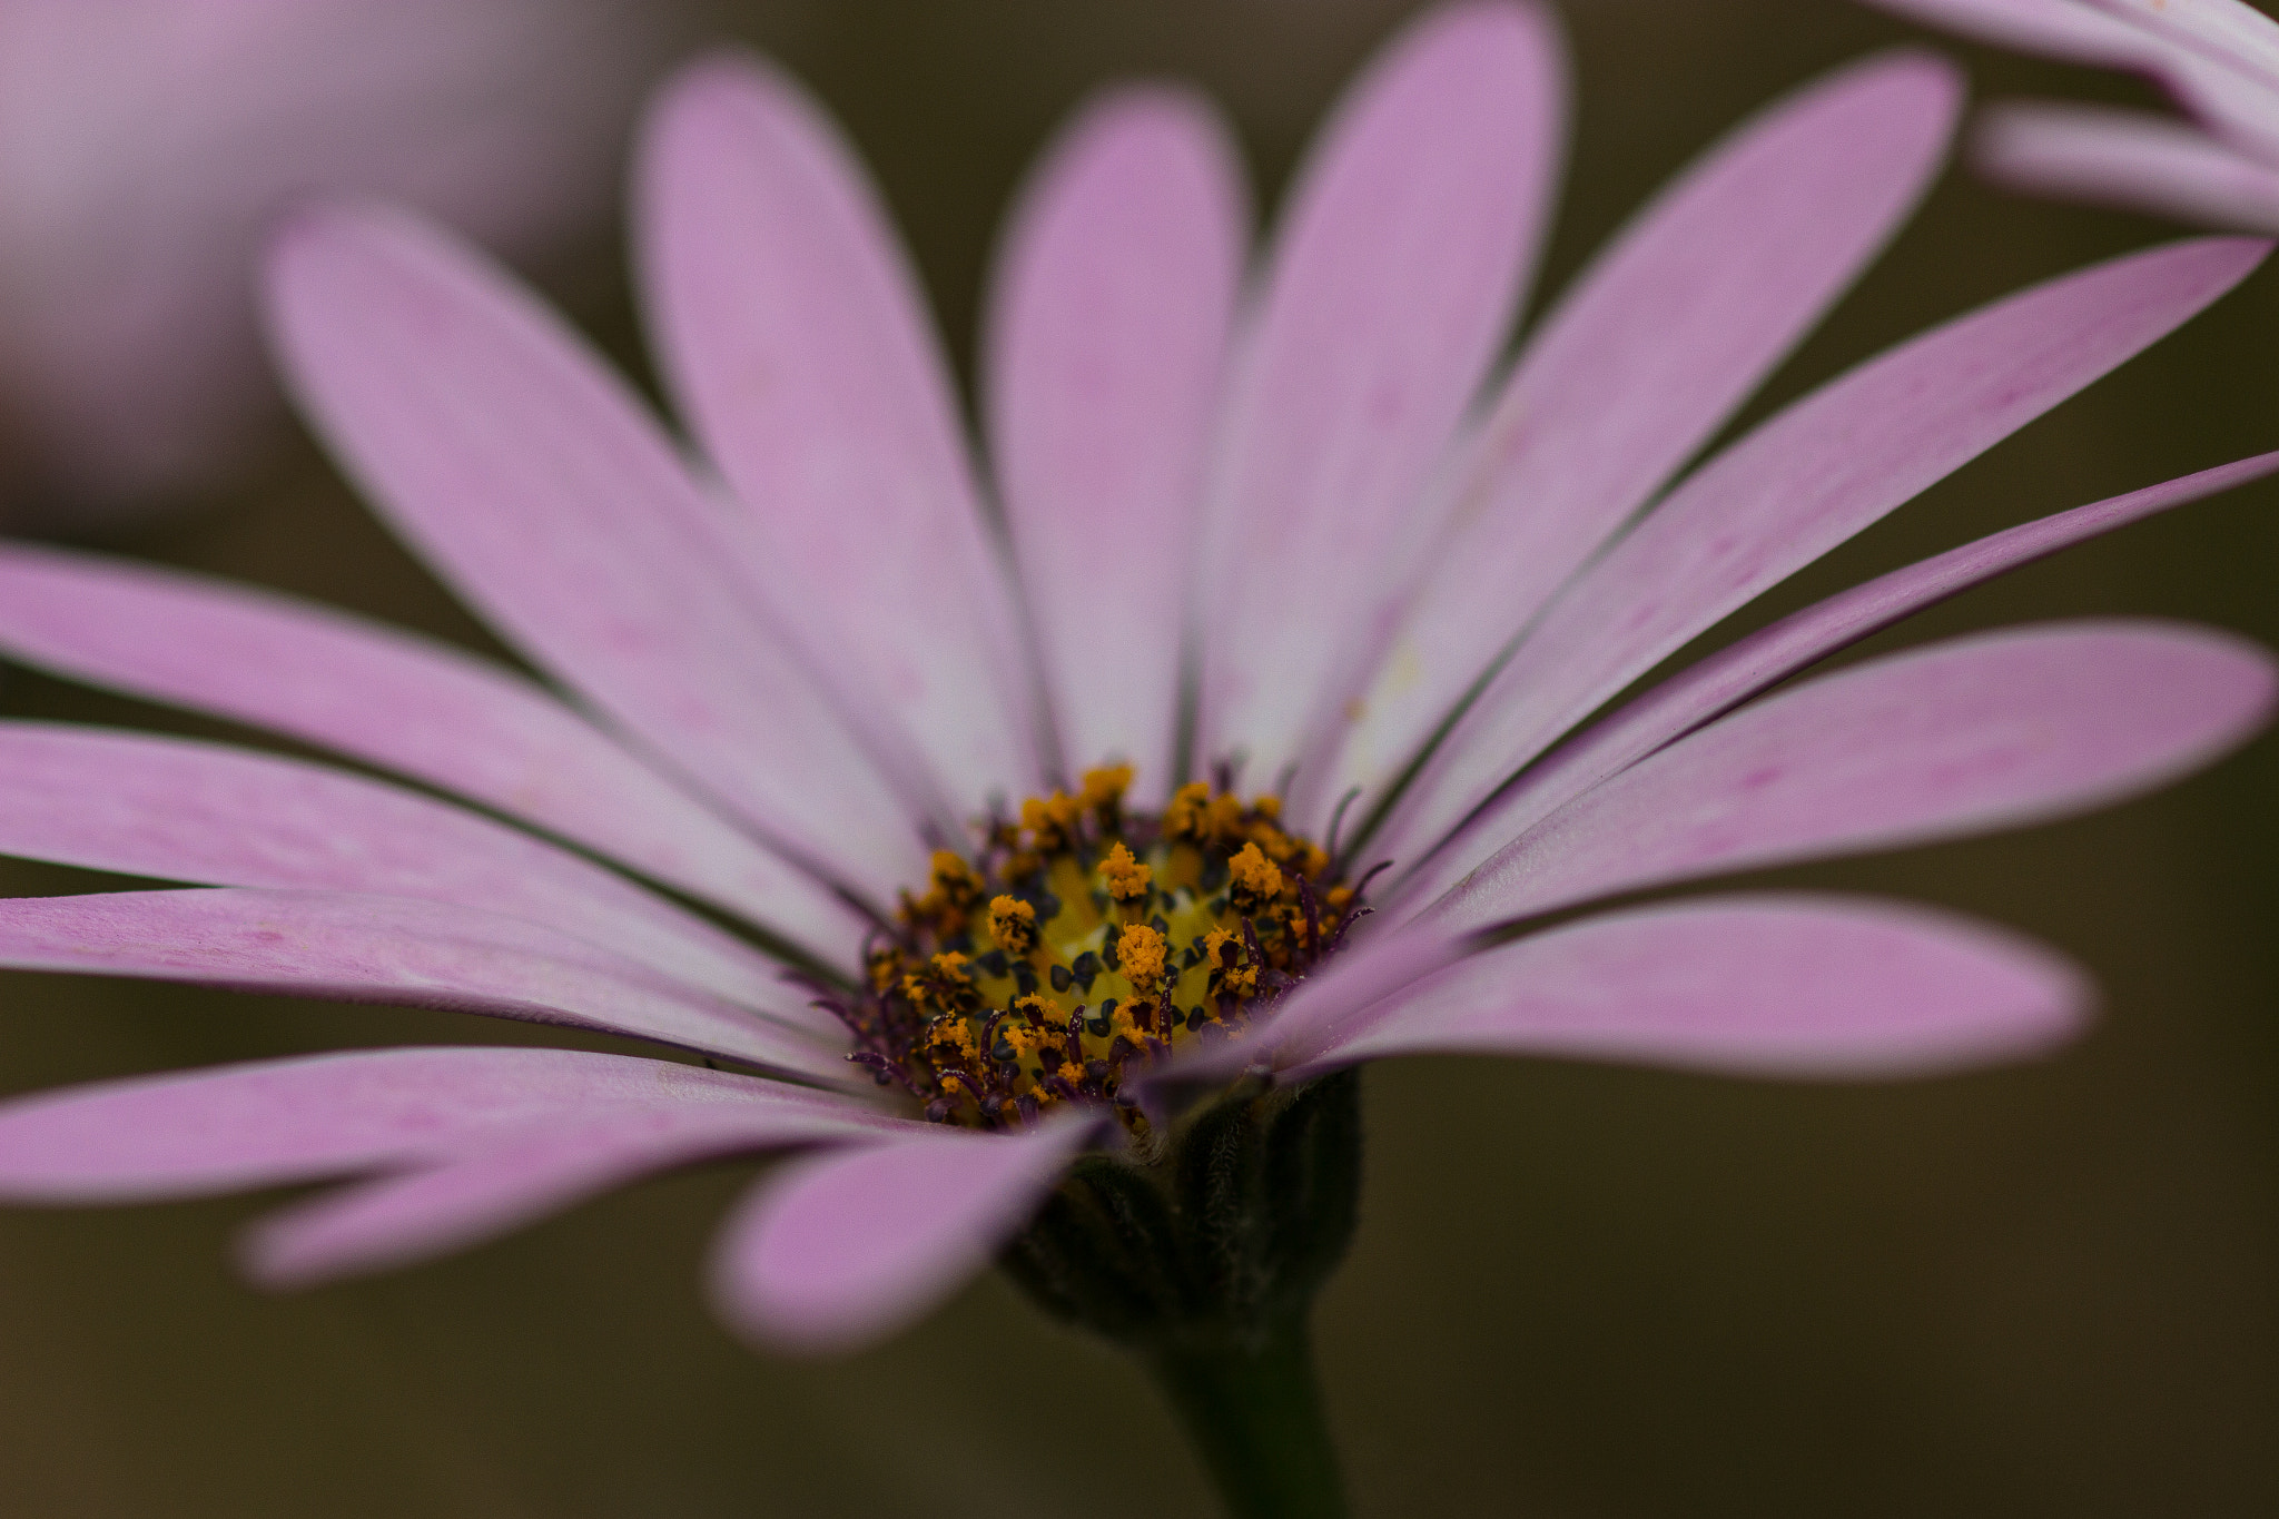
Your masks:
<svg viewBox="0 0 2279 1519"><path fill-rule="evenodd" d="M1092 770L980 824L971 859L934 854L866 991L832 1004L850 1059L941 1123L1101 1102L1137 1130L1135 1061L1244 1025L1335 950L1356 893L1281 829L1279 797L1196 781L1153 815L1124 806L1130 779Z"/></svg>

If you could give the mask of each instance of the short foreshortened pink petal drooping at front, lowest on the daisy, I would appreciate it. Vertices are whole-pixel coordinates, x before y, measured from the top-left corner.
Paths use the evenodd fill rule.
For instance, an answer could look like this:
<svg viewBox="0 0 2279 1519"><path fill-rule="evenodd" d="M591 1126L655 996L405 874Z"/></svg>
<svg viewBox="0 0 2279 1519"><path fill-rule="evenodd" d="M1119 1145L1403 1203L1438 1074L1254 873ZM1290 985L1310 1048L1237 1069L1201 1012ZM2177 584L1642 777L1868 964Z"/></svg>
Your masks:
<svg viewBox="0 0 2279 1519"><path fill-rule="evenodd" d="M1069 1111L1014 1136L939 1130L791 1161L722 1230L713 1300L786 1350L891 1335L989 1264L1101 1123Z"/></svg>

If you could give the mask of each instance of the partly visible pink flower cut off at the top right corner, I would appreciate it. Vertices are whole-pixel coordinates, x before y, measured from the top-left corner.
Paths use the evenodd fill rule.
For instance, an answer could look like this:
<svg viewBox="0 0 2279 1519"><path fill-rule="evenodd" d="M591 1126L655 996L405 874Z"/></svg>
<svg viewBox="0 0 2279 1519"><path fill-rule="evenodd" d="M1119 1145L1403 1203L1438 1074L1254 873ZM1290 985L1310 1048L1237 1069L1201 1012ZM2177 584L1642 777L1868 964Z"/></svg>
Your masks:
<svg viewBox="0 0 2279 1519"><path fill-rule="evenodd" d="M2101 105L2008 102L1978 166L2017 189L2213 228L2279 232L2279 23L2243 0L1871 0L2069 64L2158 82L2192 121Z"/></svg>

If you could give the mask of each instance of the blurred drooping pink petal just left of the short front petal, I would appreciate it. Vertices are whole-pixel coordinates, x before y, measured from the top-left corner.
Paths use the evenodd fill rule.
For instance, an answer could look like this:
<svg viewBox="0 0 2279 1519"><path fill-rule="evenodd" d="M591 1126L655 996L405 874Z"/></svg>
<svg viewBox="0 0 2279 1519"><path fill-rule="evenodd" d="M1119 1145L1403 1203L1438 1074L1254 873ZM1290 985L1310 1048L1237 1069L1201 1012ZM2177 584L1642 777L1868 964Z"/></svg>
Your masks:
<svg viewBox="0 0 2279 1519"><path fill-rule="evenodd" d="M659 1171L925 1127L852 1105L752 1098L554 1114L483 1134L442 1164L269 1214L246 1232L242 1259L264 1287L315 1287L465 1250Z"/></svg>

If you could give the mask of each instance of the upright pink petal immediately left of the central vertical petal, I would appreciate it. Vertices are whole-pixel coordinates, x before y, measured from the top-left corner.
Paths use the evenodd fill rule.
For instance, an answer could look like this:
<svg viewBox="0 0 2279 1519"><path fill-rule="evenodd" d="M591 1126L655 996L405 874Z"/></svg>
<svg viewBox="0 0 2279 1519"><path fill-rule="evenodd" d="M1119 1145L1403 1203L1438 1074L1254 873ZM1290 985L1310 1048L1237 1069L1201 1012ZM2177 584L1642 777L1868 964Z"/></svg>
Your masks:
<svg viewBox="0 0 2279 1519"><path fill-rule="evenodd" d="M957 811L1039 777L1030 667L923 305L820 107L748 57L665 87L636 182L665 380L752 508L793 633Z"/></svg>

